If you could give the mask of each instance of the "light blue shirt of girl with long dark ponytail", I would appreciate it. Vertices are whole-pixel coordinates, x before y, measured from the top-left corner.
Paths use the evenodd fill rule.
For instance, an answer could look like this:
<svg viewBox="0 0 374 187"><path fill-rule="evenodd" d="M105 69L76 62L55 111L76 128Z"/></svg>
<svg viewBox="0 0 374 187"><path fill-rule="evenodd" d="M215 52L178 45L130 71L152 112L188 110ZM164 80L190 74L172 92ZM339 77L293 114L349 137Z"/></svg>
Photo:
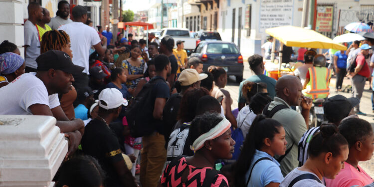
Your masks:
<svg viewBox="0 0 374 187"><path fill-rule="evenodd" d="M265 187L270 183L281 183L283 181L283 175L279 168L280 164L269 154L256 150L252 158L251 165L247 173L245 173L245 183L248 181L249 173L252 170L253 164L258 159L263 157L267 157L271 159L271 161L262 160L254 166L252 176L247 187Z"/></svg>

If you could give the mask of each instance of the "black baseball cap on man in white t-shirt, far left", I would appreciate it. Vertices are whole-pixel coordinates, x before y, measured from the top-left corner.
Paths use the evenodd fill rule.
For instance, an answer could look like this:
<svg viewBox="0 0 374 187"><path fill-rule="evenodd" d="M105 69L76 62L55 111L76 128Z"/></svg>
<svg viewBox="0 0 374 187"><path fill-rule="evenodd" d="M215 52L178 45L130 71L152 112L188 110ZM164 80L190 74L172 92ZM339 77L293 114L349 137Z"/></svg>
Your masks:
<svg viewBox="0 0 374 187"><path fill-rule="evenodd" d="M74 65L70 56L59 50L49 50L36 58L37 70L48 71L49 69L61 70L66 73L82 73L84 67Z"/></svg>

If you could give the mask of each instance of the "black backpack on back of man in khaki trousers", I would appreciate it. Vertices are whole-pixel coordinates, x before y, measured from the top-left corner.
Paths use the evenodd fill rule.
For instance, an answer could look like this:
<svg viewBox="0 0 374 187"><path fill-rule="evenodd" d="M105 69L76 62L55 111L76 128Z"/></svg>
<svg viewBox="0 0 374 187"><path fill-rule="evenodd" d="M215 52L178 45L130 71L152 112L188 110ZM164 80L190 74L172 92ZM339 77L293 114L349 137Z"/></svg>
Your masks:
<svg viewBox="0 0 374 187"><path fill-rule="evenodd" d="M161 78L151 79L127 107L126 119L132 137L148 136L157 130L158 127L153 123L155 101L152 93L154 86L162 82L165 81Z"/></svg>

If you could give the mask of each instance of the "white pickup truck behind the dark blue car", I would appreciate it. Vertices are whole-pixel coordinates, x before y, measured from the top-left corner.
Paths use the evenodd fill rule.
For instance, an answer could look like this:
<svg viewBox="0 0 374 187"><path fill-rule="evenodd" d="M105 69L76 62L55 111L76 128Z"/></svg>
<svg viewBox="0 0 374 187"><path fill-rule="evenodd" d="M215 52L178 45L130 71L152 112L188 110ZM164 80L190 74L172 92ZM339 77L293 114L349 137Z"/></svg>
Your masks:
<svg viewBox="0 0 374 187"><path fill-rule="evenodd" d="M185 41L185 50L189 56L196 48L197 38L193 38L187 28L163 28L161 31L160 41L166 35L172 36L175 42L174 48L177 48L177 41Z"/></svg>

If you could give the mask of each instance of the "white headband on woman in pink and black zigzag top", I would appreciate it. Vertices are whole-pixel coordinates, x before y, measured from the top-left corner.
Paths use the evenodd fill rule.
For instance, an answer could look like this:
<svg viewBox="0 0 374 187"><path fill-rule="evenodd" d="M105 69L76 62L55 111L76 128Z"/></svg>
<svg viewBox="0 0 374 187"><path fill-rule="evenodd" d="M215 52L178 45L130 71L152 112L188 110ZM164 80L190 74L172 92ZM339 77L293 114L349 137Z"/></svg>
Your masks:
<svg viewBox="0 0 374 187"><path fill-rule="evenodd" d="M208 132L200 135L192 144L192 146L189 146L189 148L192 151L197 151L201 149L207 140L213 140L219 136L221 136L223 133L225 133L229 128L231 127L231 123L226 119L223 118L222 121L220 121L215 127L210 129Z"/></svg>

